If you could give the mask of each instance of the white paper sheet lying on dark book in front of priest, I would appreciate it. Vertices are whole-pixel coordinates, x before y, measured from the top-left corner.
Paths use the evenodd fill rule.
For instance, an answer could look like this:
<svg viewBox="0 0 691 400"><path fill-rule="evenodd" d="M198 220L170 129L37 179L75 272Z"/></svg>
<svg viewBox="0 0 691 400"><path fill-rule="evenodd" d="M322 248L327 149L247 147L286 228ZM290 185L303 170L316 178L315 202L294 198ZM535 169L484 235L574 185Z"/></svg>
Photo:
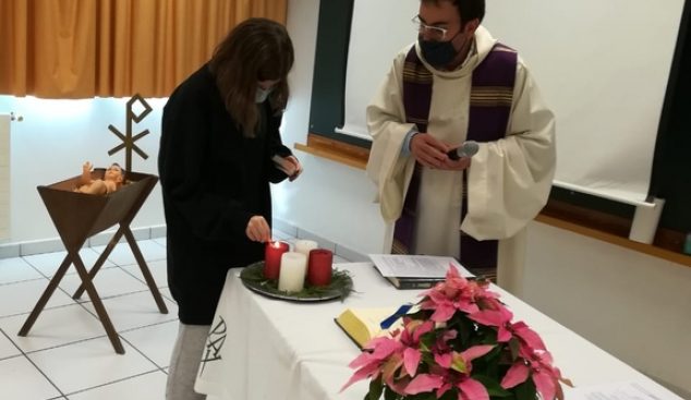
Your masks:
<svg viewBox="0 0 691 400"><path fill-rule="evenodd" d="M449 270L449 264L458 268L462 277L474 277L453 257L369 254L369 258L386 278L444 278Z"/></svg>

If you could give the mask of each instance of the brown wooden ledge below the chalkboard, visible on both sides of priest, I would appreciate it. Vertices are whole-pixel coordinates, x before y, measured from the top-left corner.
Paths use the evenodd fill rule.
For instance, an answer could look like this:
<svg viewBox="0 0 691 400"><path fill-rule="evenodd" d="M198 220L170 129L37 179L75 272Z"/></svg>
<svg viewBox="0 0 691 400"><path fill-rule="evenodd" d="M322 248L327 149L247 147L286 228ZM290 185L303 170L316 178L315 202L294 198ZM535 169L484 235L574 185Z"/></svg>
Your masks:
<svg viewBox="0 0 691 400"><path fill-rule="evenodd" d="M307 135L306 145L295 143L295 148L362 170L366 169L369 159L369 150L366 148L312 133ZM535 220L691 267L691 256L681 252L686 240L686 234L681 232L659 228L652 245L634 242L628 239L632 222L630 219L555 199L547 203Z"/></svg>

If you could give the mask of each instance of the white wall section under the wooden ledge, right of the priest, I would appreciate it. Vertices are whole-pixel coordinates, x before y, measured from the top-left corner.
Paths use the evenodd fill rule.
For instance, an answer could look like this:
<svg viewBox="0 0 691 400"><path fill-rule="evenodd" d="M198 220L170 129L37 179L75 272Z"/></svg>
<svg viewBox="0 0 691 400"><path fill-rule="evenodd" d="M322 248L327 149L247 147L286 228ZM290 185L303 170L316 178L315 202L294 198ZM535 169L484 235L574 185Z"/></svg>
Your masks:
<svg viewBox="0 0 691 400"><path fill-rule="evenodd" d="M524 292L531 305L691 399L691 268L534 222Z"/></svg>

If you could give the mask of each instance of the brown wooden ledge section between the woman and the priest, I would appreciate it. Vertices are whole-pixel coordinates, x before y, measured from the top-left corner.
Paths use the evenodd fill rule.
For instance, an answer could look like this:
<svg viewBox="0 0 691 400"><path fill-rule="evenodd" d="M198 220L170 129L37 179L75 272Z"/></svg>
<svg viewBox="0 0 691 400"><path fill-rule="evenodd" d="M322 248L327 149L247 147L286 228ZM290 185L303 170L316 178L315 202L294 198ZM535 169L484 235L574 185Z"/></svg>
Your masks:
<svg viewBox="0 0 691 400"><path fill-rule="evenodd" d="M367 160L369 159L369 149L367 148L353 146L313 133L307 135L306 145L295 143L295 149L362 170L367 169Z"/></svg>

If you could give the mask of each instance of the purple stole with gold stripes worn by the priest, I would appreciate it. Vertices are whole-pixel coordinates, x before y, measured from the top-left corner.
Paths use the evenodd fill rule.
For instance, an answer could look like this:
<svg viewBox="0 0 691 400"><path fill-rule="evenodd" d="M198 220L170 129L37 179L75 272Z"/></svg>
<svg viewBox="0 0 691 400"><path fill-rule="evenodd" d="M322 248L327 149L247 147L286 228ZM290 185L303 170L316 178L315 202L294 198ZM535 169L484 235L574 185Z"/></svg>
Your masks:
<svg viewBox="0 0 691 400"><path fill-rule="evenodd" d="M506 137L513 101L517 63L517 52L497 44L473 71L468 141L486 143ZM432 85L433 74L422 63L413 46L405 58L403 68L403 105L407 122L414 123L417 131L422 133L427 132ZM392 254L408 254L413 244L421 175L422 166L415 162L403 211L396 221ZM460 222L468 215L468 172L463 171L463 205ZM464 267L474 271L489 272L485 275L494 275L498 252L496 240L477 241L461 231L459 245L460 262Z"/></svg>

